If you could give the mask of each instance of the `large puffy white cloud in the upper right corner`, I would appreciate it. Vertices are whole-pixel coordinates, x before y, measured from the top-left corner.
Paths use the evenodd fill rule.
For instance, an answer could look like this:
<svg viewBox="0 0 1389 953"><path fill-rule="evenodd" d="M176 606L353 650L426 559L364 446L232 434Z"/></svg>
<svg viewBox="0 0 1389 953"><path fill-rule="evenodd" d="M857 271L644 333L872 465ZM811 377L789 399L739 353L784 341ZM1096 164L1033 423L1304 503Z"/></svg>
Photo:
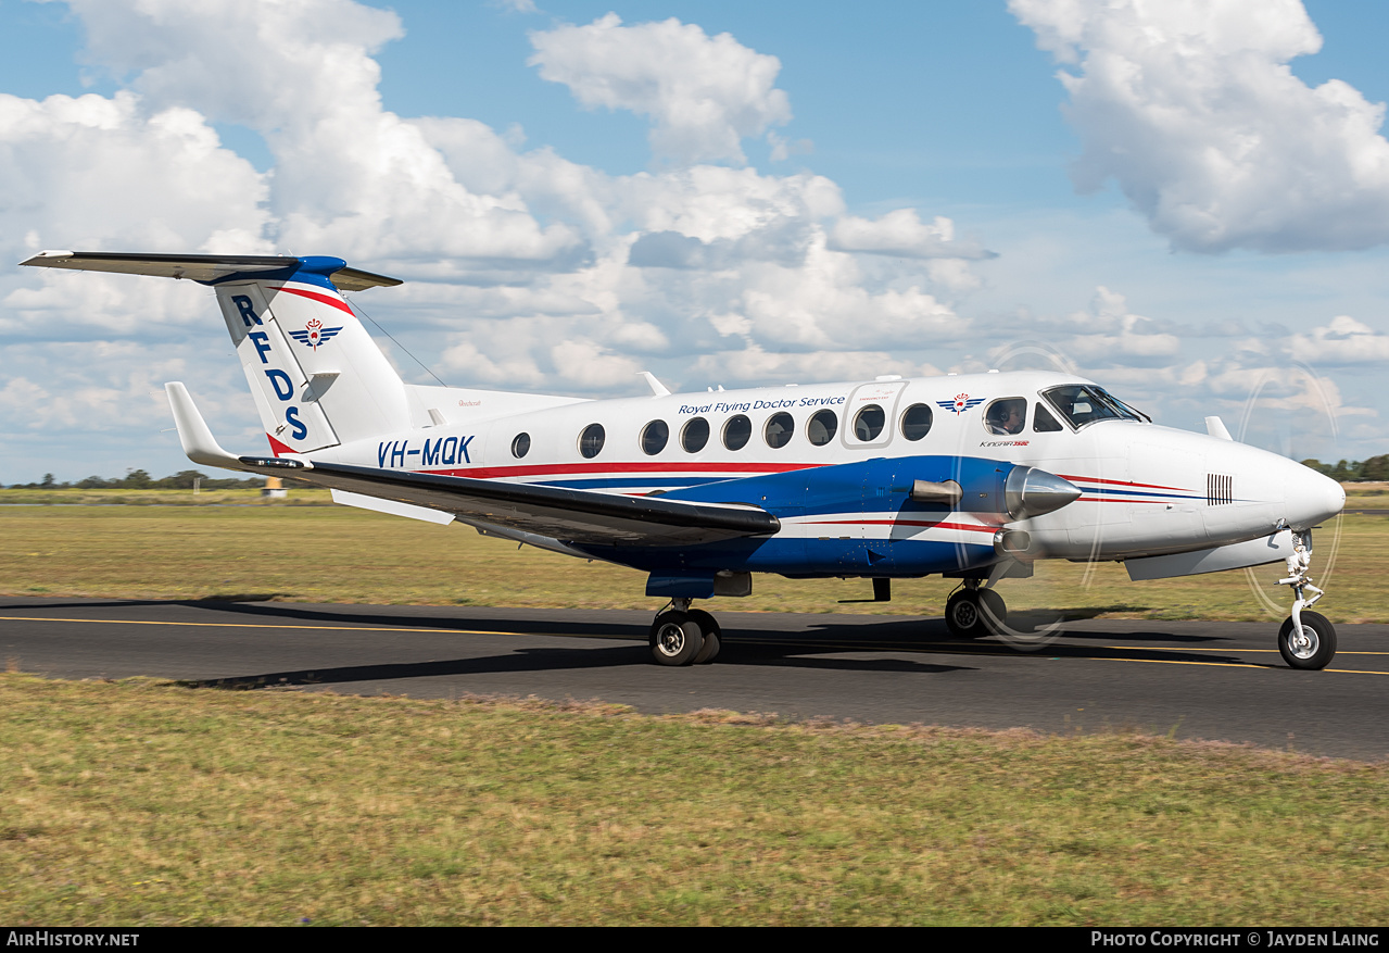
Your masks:
<svg viewBox="0 0 1389 953"><path fill-rule="evenodd" d="M1010 0L1064 68L1082 192L1113 178L1190 251L1389 240L1382 103L1288 63L1321 36L1299 0Z"/></svg>

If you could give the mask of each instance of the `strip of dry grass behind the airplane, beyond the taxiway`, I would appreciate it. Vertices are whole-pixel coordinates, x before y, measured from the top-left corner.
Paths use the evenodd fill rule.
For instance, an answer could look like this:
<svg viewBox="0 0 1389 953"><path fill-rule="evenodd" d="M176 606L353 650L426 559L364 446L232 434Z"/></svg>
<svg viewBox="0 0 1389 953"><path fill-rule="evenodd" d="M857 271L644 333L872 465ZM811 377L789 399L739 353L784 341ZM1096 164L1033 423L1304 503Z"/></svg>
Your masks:
<svg viewBox="0 0 1389 953"><path fill-rule="evenodd" d="M1376 492L1379 485L1370 485ZM1375 499L1365 496L1364 499ZM654 608L644 575L603 563L517 549L463 527L436 527L335 506L325 490L263 500L256 490L0 490L0 593L139 599ZM17 506L19 504L19 506ZM25 506L26 504L26 506ZM1350 506L1356 506L1353 502ZM1317 536L1325 579L1335 527ZM1340 549L1318 604L1336 622L1389 621L1389 517L1340 518ZM1290 597L1254 571L1279 618ZM954 581L899 581L890 603L864 579L758 575L742 611L939 615ZM1040 563L1032 579L1000 583L1010 608L1072 617L1265 620L1246 572L1129 582L1114 563Z"/></svg>

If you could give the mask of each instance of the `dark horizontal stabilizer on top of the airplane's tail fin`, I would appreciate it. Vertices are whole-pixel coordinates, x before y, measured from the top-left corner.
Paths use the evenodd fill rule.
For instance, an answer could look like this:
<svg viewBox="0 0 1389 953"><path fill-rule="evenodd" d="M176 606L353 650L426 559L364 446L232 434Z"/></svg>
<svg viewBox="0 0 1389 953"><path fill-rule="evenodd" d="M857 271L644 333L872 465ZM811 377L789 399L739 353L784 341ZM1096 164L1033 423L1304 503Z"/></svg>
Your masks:
<svg viewBox="0 0 1389 953"><path fill-rule="evenodd" d="M319 260L321 261L321 260ZM21 265L36 268L71 268L74 271L110 271L122 275L153 275L156 278L188 278L215 282L228 275L254 275L261 271L285 271L306 264L304 258L285 254L129 254L124 251L40 251ZM399 278L374 275L369 271L347 268L332 272L332 282L343 292L365 288L393 288Z"/></svg>

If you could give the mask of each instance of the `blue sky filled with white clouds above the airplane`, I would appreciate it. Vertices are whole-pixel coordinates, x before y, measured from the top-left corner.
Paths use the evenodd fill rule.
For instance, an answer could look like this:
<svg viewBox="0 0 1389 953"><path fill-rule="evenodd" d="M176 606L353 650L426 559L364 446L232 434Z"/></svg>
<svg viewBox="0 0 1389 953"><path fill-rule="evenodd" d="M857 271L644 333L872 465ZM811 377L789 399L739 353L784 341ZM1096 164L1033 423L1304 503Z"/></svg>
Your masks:
<svg viewBox="0 0 1389 953"><path fill-rule="evenodd" d="M165 381L264 447L208 289L42 249L401 278L353 303L417 383L1051 367L1386 453L1386 35L1356 0L0 0L0 483L189 468Z"/></svg>

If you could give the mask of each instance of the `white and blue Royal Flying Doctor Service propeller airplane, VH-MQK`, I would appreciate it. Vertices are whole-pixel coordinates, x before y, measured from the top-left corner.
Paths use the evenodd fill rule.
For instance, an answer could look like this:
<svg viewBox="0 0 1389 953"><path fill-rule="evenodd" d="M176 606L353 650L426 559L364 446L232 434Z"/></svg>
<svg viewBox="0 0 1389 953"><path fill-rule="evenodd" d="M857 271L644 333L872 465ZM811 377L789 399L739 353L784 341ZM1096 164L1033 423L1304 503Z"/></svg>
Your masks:
<svg viewBox="0 0 1389 953"><path fill-rule="evenodd" d="M1320 670L1335 627L1308 611L1311 531L1335 481L1231 439L1172 429L1093 381L1047 371L671 393L615 400L401 381L343 292L400 285L342 258L42 251L31 267L189 279L214 289L271 456L232 454L182 382L165 385L183 451L292 476L335 502L460 522L647 574L668 600L663 665L713 661L714 617L753 574L960 579L945 621L1006 635L997 582L1046 558L1121 561L1135 581L1288 561L1292 668ZM1304 589L1314 596L1304 599Z"/></svg>

